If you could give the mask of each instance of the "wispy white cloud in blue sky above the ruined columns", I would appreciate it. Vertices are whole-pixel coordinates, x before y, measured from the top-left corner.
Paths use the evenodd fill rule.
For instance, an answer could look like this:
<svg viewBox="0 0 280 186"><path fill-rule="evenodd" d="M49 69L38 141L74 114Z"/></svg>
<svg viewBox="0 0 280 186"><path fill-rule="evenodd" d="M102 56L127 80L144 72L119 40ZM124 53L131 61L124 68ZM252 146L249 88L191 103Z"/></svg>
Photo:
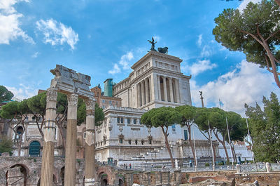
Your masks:
<svg viewBox="0 0 280 186"><path fill-rule="evenodd" d="M63 25L56 20L39 20L36 22L37 29L43 32L45 44L63 45L69 44L71 49L75 48L78 42L78 34L71 27Z"/></svg>

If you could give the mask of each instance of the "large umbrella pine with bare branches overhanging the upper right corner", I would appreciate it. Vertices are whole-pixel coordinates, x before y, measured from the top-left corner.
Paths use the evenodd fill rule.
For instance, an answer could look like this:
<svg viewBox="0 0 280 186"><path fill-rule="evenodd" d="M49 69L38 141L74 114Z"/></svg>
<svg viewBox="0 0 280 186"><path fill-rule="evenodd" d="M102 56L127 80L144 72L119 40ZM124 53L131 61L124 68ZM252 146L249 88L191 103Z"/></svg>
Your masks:
<svg viewBox="0 0 280 186"><path fill-rule="evenodd" d="M280 9L275 1L248 3L242 11L228 8L215 18L216 41L230 51L241 51L248 62L266 67L280 88Z"/></svg>

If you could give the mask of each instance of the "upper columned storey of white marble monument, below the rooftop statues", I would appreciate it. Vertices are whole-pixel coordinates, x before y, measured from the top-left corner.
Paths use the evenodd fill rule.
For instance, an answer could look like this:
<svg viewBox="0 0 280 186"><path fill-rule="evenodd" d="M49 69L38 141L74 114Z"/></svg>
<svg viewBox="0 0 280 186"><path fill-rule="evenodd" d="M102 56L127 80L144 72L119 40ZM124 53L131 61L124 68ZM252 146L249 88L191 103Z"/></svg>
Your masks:
<svg viewBox="0 0 280 186"><path fill-rule="evenodd" d="M113 86L123 107L152 109L191 105L190 76L181 72L180 58L150 51L132 65L129 77Z"/></svg>

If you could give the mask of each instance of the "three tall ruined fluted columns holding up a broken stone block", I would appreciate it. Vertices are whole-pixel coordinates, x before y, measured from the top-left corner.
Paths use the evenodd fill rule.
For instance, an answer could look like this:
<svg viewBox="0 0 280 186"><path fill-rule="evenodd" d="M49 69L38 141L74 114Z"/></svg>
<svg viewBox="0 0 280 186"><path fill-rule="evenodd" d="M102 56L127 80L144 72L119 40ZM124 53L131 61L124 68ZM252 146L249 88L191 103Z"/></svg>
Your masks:
<svg viewBox="0 0 280 186"><path fill-rule="evenodd" d="M57 88L47 90L45 110L45 131L41 166L41 186L51 186L54 169L55 118L57 116ZM65 185L76 185L76 140L78 94L67 95L67 128L65 147ZM86 98L86 135L85 135L85 185L94 185L94 98Z"/></svg>

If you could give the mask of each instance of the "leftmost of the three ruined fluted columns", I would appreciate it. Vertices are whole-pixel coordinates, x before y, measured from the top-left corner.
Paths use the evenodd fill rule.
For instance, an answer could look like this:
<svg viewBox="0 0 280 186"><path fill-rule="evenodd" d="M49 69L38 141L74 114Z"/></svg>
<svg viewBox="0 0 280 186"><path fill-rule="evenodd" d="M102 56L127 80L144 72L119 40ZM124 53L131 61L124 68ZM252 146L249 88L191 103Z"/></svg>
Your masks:
<svg viewBox="0 0 280 186"><path fill-rule="evenodd" d="M48 88L45 109L45 131L41 166L41 186L52 186L55 150L55 118L57 117L57 88Z"/></svg>

